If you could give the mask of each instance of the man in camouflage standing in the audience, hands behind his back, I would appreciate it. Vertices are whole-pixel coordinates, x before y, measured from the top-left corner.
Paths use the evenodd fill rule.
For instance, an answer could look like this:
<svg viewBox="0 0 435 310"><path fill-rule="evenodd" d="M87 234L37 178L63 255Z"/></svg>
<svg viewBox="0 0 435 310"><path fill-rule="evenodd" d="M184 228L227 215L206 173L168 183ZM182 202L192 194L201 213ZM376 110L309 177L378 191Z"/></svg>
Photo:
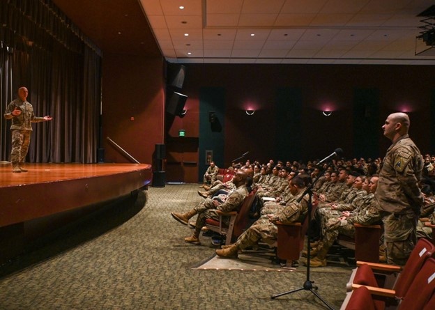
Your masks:
<svg viewBox="0 0 435 310"><path fill-rule="evenodd" d="M423 203L418 180L423 161L408 135L408 115L390 114L382 130L392 145L383 160L374 195L384 225L387 261L403 266L417 242L415 229Z"/></svg>

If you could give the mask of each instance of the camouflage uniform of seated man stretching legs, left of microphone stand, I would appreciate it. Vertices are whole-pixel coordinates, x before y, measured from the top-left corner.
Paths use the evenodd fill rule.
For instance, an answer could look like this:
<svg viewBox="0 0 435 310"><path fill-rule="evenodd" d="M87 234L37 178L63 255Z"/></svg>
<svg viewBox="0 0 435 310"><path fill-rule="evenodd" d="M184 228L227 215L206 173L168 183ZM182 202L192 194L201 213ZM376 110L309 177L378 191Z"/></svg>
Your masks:
<svg viewBox="0 0 435 310"><path fill-rule="evenodd" d="M308 195L298 202L298 198L302 196L303 191L295 196L293 203L287 204L284 208L274 214L269 220L268 217L260 217L250 228L238 237L235 245L239 249L246 249L252 245L256 245L261 239L276 240L278 234L278 228L274 221L280 221L283 223L302 222L307 215L308 211Z"/></svg>

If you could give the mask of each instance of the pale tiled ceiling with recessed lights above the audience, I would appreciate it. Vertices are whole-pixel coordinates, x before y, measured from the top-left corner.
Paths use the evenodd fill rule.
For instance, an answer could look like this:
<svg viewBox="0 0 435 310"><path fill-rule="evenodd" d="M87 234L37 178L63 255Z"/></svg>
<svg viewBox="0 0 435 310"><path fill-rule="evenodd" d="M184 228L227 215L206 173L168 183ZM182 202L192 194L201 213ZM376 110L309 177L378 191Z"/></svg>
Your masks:
<svg viewBox="0 0 435 310"><path fill-rule="evenodd" d="M415 56L432 0L138 1L170 62L435 65Z"/></svg>

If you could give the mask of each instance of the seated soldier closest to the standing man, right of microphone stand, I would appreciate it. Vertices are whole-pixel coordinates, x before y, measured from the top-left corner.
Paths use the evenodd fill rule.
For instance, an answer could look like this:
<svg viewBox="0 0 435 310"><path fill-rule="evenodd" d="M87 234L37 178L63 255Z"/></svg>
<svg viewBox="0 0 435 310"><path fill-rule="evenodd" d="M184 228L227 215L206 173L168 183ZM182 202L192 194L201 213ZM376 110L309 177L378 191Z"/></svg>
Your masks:
<svg viewBox="0 0 435 310"><path fill-rule="evenodd" d="M331 217L326 223L323 238L318 243L310 261L310 267L326 266L326 254L337 240L339 233L355 238L355 226L353 224L372 225L381 222L381 213L378 210L378 201L374 199L374 192L378 184L379 177L372 176L369 181L370 195L367 195L363 203L352 212L344 211L341 217ZM305 264L306 265L306 264Z"/></svg>

